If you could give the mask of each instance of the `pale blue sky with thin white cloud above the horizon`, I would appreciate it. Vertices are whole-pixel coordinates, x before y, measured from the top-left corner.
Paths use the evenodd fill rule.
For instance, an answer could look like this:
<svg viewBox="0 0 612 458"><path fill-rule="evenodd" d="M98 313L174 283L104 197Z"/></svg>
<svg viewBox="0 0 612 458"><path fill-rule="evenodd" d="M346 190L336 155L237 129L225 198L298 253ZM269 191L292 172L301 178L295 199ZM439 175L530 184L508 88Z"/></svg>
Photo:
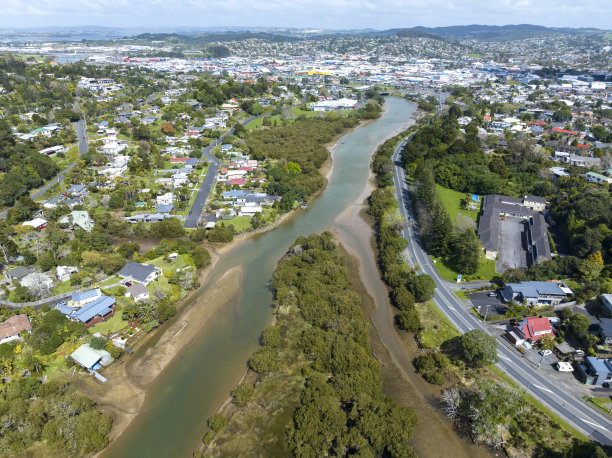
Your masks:
<svg viewBox="0 0 612 458"><path fill-rule="evenodd" d="M612 29L612 0L8 0L0 28L538 24ZM8 3L8 5L6 4Z"/></svg>

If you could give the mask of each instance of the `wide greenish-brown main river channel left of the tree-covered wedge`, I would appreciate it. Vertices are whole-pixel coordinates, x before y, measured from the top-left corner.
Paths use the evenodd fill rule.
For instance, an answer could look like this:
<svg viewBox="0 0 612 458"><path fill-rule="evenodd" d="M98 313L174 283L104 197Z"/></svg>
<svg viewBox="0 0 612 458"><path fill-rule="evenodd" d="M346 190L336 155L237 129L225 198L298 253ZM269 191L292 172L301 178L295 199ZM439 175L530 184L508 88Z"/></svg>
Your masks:
<svg viewBox="0 0 612 458"><path fill-rule="evenodd" d="M191 300L202 300L210 285L237 265L243 268L243 281L235 285L239 294L155 379L147 389L141 413L104 456L191 456L202 440L206 419L239 381L258 347L259 335L270 323L268 284L278 260L300 235L334 227L346 232L337 226L336 218L366 189L375 148L406 127L415 110L410 102L388 97L381 118L340 139L328 186L307 210L223 255Z"/></svg>

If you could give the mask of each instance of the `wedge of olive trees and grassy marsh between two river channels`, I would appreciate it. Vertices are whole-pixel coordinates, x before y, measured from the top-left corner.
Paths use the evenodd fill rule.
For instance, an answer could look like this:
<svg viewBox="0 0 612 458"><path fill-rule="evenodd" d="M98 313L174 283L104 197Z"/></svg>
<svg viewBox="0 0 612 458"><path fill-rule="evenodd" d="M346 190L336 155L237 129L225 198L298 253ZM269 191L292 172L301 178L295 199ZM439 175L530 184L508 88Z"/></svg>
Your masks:
<svg viewBox="0 0 612 458"><path fill-rule="evenodd" d="M277 323L249 362L257 382L247 377L250 387L232 392L240 407L227 426L213 417L204 455L414 456L407 441L418 419L382 394L368 322L333 236L298 238L272 287Z"/></svg>

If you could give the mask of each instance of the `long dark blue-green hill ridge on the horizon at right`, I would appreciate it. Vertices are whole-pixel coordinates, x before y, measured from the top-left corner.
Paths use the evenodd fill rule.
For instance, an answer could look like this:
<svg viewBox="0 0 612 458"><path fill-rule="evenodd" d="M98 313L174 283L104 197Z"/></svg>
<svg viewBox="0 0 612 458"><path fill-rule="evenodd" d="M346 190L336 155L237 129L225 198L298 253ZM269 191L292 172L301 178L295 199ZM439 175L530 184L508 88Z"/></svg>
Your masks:
<svg viewBox="0 0 612 458"><path fill-rule="evenodd" d="M599 29L552 28L541 25L456 25L449 27L413 27L405 31L424 32L449 40L503 41L555 35L599 35Z"/></svg>

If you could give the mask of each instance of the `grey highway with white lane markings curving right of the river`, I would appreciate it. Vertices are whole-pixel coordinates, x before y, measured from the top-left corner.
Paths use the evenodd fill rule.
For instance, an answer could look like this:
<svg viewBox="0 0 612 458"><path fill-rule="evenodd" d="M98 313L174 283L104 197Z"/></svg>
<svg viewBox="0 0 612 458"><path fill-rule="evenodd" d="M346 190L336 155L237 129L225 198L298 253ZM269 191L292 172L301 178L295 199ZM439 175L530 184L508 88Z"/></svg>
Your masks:
<svg viewBox="0 0 612 458"><path fill-rule="evenodd" d="M394 183L397 191L399 209L406 221L412 216L412 203L408 182L401 162L401 152L408 139L400 142L393 154ZM413 266L420 266L420 271L430 275L436 282L434 303L449 321L461 332L480 329L487 334L491 332L477 319L469 309L464 308L433 265L431 258L420 246L419 236L413 224L407 224L402 235L408 240L406 257ZM589 407L581 399L562 392L545 374L528 363L518 352L499 342L497 366L517 385L540 401L582 434L604 445L612 445L612 421L603 413Z"/></svg>

